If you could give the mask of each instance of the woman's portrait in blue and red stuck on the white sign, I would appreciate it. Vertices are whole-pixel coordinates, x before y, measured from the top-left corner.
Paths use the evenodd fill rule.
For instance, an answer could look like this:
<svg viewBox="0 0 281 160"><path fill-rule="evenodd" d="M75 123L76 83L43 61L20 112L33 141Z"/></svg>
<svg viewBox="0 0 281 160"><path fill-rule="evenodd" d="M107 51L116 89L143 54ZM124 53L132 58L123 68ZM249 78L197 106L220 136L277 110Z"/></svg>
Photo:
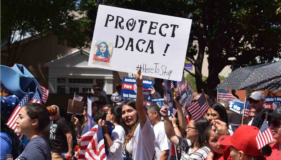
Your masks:
<svg viewBox="0 0 281 160"><path fill-rule="evenodd" d="M93 63L109 65L112 57L113 43L101 40L95 41Z"/></svg>

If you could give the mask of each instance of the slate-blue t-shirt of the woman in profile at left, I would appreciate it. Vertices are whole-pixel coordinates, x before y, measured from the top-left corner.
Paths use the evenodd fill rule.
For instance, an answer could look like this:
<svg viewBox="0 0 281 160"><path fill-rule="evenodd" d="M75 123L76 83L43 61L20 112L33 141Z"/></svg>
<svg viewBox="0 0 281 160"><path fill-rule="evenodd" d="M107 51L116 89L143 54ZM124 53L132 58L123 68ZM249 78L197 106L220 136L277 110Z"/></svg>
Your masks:
<svg viewBox="0 0 281 160"><path fill-rule="evenodd" d="M32 138L26 145L22 154L15 160L51 160L51 150L43 136Z"/></svg>

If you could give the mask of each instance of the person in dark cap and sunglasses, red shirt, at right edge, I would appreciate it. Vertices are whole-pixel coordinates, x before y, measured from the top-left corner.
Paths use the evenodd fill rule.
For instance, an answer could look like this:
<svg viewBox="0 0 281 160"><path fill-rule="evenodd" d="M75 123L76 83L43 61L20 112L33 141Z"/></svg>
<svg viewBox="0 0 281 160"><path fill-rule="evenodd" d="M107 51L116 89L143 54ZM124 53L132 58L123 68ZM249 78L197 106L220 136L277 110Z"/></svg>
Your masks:
<svg viewBox="0 0 281 160"><path fill-rule="evenodd" d="M273 134L273 138L277 142L270 145L272 154L266 159L281 159L281 107L276 108L272 113L268 113L268 125Z"/></svg>

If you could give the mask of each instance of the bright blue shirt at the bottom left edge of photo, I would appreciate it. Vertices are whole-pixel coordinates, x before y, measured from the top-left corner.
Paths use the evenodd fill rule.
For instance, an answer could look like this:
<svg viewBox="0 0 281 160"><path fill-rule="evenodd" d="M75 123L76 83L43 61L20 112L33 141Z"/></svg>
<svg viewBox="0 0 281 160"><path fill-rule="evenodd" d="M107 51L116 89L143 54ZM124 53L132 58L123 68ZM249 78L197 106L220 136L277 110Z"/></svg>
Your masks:
<svg viewBox="0 0 281 160"><path fill-rule="evenodd" d="M2 96L1 96L2 97ZM12 153L12 139L6 132L1 132L0 134L1 141L1 154L0 159L6 159L6 154Z"/></svg>

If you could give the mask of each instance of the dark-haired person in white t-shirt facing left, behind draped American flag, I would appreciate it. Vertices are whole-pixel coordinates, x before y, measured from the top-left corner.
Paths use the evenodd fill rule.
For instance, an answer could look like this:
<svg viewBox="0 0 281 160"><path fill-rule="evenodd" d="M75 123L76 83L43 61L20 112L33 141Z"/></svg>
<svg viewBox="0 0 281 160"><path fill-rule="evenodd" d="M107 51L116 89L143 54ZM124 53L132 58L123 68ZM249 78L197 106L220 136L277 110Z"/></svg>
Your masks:
<svg viewBox="0 0 281 160"><path fill-rule="evenodd" d="M125 130L120 125L121 119L121 106L116 106L108 109L106 120L114 124L115 128L112 131L111 136L104 134L104 139L106 146L108 147L108 160L121 160L122 157L122 146L125 138ZM103 132L107 132L107 127L105 126L104 121L98 123L102 128Z"/></svg>

